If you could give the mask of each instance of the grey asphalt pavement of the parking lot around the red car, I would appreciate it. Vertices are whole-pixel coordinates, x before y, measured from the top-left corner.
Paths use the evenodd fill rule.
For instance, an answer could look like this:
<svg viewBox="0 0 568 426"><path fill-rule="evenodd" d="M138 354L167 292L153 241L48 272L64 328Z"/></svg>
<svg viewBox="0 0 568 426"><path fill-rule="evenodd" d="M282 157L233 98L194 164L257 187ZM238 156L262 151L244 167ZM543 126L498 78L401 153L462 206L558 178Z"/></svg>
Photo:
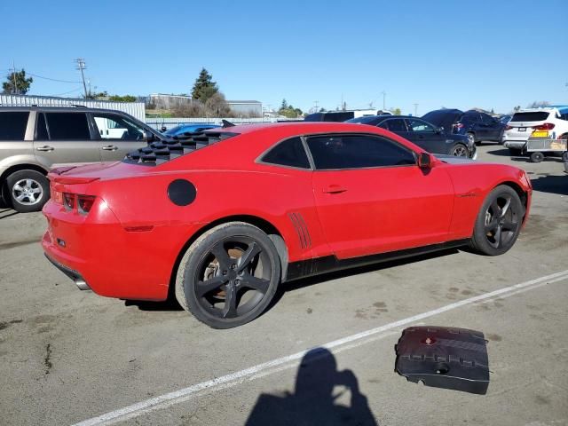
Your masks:
<svg viewBox="0 0 568 426"><path fill-rule="evenodd" d="M568 175L495 145L478 161L533 181L507 254L449 250L290 283L230 330L79 291L43 257L41 213L0 209L0 423L568 424ZM412 324L483 331L487 394L397 375Z"/></svg>

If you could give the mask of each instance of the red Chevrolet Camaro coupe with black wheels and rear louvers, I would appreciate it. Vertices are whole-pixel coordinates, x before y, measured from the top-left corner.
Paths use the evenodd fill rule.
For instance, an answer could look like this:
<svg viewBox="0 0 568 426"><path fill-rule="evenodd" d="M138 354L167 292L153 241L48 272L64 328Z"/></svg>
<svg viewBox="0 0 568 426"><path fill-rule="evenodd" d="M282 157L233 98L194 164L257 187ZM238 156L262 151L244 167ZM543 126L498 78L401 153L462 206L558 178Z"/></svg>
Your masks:
<svg viewBox="0 0 568 426"><path fill-rule="evenodd" d="M468 244L500 255L532 194L515 167L332 122L208 130L49 177L43 249L79 288L175 295L217 328L255 319L280 282Z"/></svg>

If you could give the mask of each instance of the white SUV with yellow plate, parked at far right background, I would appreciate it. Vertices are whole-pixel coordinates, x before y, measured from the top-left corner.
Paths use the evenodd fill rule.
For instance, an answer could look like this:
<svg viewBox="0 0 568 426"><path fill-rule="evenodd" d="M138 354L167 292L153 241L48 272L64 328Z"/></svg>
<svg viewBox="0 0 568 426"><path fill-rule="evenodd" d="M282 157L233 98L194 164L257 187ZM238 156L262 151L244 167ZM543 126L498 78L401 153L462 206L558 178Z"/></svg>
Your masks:
<svg viewBox="0 0 568 426"><path fill-rule="evenodd" d="M513 115L501 142L511 155L522 154L529 137L568 138L568 106L524 109Z"/></svg>

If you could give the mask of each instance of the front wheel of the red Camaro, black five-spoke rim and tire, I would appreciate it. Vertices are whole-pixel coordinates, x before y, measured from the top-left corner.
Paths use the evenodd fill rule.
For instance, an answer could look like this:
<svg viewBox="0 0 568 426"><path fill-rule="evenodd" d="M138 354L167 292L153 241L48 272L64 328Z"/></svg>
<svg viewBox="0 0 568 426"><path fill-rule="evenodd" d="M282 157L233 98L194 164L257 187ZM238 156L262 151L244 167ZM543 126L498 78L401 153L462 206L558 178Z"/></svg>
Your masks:
<svg viewBox="0 0 568 426"><path fill-rule="evenodd" d="M517 241L524 217L518 193L510 186L497 186L477 214L469 247L486 256L502 255Z"/></svg>

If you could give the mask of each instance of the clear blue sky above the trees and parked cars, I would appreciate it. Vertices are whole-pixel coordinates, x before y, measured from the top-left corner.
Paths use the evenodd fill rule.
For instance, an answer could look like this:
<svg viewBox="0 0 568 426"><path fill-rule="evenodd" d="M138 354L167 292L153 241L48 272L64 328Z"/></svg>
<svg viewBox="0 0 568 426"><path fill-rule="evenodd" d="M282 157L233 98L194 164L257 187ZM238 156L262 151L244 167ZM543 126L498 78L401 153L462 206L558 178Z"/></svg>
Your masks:
<svg viewBox="0 0 568 426"><path fill-rule="evenodd" d="M304 110L568 104L568 1L3 1L0 73L98 91L191 91L206 67L227 99ZM35 77L30 94L81 94Z"/></svg>

